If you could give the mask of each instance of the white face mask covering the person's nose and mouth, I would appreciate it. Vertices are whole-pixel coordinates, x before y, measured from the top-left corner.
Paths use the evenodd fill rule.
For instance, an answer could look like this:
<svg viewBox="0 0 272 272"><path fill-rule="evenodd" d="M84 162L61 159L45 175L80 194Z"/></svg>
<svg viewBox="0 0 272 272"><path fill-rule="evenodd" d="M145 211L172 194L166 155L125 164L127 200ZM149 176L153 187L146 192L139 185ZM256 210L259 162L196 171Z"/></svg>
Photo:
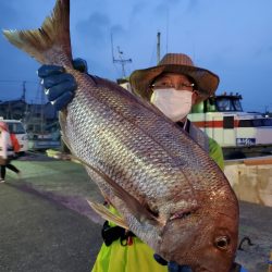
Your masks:
<svg viewBox="0 0 272 272"><path fill-rule="evenodd" d="M154 89L151 103L174 122L182 121L191 108L193 92L189 90Z"/></svg>

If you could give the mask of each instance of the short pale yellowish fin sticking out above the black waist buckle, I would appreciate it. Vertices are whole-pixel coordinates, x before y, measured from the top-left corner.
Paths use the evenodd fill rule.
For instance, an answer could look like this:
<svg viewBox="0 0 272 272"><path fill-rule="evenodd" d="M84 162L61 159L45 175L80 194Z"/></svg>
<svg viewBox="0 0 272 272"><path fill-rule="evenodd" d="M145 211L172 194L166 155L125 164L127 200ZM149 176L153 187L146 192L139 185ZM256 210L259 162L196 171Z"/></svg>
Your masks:
<svg viewBox="0 0 272 272"><path fill-rule="evenodd" d="M96 203L96 202L91 202L89 200L87 200L87 202L89 203L89 206L99 214L101 215L101 218L103 218L104 220L111 221L114 224L128 230L127 224L125 223L124 219L121 218L120 215L116 215L114 213L112 213L109 209L107 209L101 203Z"/></svg>

